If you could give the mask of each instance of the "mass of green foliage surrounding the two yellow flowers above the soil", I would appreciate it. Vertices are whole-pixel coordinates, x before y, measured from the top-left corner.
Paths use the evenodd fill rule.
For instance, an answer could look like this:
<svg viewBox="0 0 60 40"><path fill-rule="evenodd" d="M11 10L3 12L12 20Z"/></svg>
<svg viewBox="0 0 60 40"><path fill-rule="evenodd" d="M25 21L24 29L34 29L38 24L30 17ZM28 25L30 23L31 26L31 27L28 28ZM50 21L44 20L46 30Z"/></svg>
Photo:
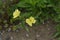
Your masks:
<svg viewBox="0 0 60 40"><path fill-rule="evenodd" d="M48 19L60 23L60 0L6 0L4 3L0 1L0 5L0 14L2 16L0 24L3 26L1 28L4 29L17 30L24 28L28 30L29 27L27 27L28 24L25 21L31 16L36 20L33 25L38 25ZM16 9L21 13L19 17L13 18Z"/></svg>

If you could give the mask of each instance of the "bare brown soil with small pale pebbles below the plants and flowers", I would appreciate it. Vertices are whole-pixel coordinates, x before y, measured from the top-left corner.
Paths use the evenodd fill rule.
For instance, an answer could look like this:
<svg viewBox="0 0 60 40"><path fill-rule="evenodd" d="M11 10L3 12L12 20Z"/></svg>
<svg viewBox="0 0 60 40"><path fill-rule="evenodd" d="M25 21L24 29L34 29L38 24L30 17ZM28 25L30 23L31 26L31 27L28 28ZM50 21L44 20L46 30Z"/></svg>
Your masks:
<svg viewBox="0 0 60 40"><path fill-rule="evenodd" d="M47 21L44 24L30 28L30 32L20 29L18 32L3 32L2 40L56 40L52 37L55 23Z"/></svg>

